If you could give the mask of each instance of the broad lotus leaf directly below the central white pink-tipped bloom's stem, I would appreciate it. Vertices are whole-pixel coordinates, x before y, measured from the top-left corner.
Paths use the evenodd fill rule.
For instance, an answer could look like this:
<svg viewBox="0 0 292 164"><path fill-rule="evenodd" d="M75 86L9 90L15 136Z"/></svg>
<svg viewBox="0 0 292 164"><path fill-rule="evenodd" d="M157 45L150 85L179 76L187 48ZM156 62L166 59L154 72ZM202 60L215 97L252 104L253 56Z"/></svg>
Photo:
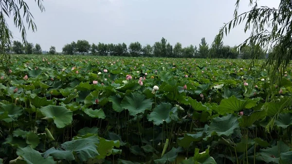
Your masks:
<svg viewBox="0 0 292 164"><path fill-rule="evenodd" d="M171 120L178 120L178 109L177 107L172 107L170 103L161 103L156 106L153 111L147 115L148 121L153 121L154 125L170 123Z"/></svg>

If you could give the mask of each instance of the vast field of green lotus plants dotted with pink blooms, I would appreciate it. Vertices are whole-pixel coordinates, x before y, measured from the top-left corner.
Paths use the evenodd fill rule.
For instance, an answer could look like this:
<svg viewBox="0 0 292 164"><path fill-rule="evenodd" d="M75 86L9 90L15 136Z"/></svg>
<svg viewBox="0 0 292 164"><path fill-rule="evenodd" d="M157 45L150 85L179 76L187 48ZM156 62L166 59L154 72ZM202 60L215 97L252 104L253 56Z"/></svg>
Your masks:
<svg viewBox="0 0 292 164"><path fill-rule="evenodd" d="M11 61L0 164L291 164L291 69L278 85L241 59Z"/></svg>

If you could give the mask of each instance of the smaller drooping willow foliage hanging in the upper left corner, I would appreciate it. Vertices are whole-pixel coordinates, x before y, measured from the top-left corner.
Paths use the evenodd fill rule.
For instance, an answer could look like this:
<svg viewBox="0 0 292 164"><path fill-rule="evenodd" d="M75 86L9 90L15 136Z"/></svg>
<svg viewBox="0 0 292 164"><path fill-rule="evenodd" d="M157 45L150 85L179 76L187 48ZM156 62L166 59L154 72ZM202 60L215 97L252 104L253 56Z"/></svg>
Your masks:
<svg viewBox="0 0 292 164"><path fill-rule="evenodd" d="M42 1L35 0L41 12L45 10ZM25 23L28 24L28 29L32 29L33 32L37 31L37 26L25 0L0 0L0 63L1 67L8 71L10 55L7 55L6 52L11 46L13 34L6 18L13 18L14 25L19 29L24 44L27 42Z"/></svg>

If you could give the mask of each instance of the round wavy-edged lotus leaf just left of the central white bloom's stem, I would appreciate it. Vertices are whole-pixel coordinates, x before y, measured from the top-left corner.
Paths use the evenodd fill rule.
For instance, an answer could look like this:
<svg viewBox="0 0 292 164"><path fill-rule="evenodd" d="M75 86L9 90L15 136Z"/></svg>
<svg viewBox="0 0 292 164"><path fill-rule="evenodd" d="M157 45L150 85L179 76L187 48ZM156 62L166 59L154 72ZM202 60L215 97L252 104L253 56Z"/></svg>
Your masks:
<svg viewBox="0 0 292 164"><path fill-rule="evenodd" d="M144 113L145 110L151 110L152 103L152 99L146 99L142 93L134 92L124 97L121 107L128 109L129 114L135 116L138 113Z"/></svg>

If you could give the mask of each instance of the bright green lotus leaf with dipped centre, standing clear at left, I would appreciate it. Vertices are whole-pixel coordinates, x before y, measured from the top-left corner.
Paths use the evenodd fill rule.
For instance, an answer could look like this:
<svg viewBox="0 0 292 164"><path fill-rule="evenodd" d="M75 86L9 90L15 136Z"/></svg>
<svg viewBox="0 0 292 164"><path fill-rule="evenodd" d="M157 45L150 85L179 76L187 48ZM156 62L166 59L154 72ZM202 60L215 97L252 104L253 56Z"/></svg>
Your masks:
<svg viewBox="0 0 292 164"><path fill-rule="evenodd" d="M64 128L73 121L73 112L63 106L49 105L40 109L43 119L53 119L57 128Z"/></svg>

